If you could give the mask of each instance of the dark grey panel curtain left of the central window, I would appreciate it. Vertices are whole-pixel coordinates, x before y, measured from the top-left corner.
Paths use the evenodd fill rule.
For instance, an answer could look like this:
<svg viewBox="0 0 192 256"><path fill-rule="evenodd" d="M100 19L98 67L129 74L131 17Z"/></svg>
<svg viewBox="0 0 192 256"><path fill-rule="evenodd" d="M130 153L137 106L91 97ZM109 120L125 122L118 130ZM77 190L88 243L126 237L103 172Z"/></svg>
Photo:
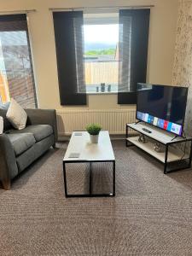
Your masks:
<svg viewBox="0 0 192 256"><path fill-rule="evenodd" d="M83 12L54 12L61 105L85 105Z"/></svg>

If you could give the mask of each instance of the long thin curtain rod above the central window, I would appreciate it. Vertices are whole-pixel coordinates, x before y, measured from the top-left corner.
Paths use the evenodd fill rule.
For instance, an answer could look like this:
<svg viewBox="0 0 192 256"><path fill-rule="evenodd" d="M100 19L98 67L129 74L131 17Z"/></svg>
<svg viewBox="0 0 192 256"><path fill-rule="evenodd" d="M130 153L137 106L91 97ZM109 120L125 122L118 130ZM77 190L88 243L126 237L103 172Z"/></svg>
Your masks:
<svg viewBox="0 0 192 256"><path fill-rule="evenodd" d="M87 6L87 7L71 7L71 8L49 8L50 11L59 10L75 10L75 9L143 9L152 8L154 5L135 5L135 6Z"/></svg>

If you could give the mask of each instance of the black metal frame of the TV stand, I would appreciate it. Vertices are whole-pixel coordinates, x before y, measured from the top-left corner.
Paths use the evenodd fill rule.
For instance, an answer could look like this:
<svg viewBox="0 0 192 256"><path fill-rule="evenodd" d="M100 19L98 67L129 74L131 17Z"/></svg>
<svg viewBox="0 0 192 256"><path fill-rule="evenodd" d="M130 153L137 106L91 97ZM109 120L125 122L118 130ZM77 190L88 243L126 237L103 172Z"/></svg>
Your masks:
<svg viewBox="0 0 192 256"><path fill-rule="evenodd" d="M136 146L135 144L130 143L130 145L128 144L128 140L127 138L129 137L128 135L128 129L132 129L134 131L137 131L136 129L132 128L132 127L129 127L129 124L126 124L126 135L125 135L125 146L126 147L131 147L131 146ZM140 131L137 131L139 133L142 133ZM144 136L146 137L149 137L148 135L146 135L145 133L142 133ZM149 137L151 138L151 137ZM154 138L152 138L154 139ZM155 139L154 139L155 140ZM158 140L156 140L157 142L159 142ZM168 158L168 153L169 153L169 146L172 145L172 144L177 144L177 143L187 143L187 142L190 142L190 152L189 152L189 158L188 159L184 159L184 160L189 160L189 164L187 166L183 166L183 167L177 167L177 168L174 168L174 169L171 169L171 170L167 170L167 166L168 166L168 162L167 162L167 158ZM169 172L176 172L176 171L180 171L180 170L184 170L184 169L189 169L191 167L191 160L192 160L192 138L183 138L183 140L180 140L180 141L172 141L170 143L166 143L164 144L165 147L166 147L166 154L165 154L165 163L164 163L164 173L167 174ZM143 148L140 148L141 150L143 150L143 152L149 154L147 151L145 151ZM154 157L152 154L149 154L150 156ZM154 157L155 160L158 160ZM160 161L160 160L158 160ZM181 161L181 160L176 160L174 162L178 162L178 161ZM160 161L160 163L162 164L162 162ZM171 162L173 163L173 162Z"/></svg>

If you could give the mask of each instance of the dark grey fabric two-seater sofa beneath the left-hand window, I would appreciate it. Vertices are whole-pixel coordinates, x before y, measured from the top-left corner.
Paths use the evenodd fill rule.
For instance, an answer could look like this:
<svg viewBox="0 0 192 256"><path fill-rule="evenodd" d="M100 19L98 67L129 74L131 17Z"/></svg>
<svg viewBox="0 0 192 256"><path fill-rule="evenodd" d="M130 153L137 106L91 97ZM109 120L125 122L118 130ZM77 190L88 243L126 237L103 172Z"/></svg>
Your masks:
<svg viewBox="0 0 192 256"><path fill-rule="evenodd" d="M30 166L57 141L56 114L53 109L25 109L26 128L15 130L6 119L7 110L0 108L4 119L0 135L0 181L10 189L11 180Z"/></svg>

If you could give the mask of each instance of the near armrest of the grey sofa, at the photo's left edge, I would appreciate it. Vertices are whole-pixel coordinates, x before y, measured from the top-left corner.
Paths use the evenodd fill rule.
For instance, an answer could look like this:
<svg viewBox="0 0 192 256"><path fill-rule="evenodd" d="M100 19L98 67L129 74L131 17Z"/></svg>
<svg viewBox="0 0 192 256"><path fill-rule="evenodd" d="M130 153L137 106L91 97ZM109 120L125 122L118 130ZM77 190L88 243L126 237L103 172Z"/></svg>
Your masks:
<svg viewBox="0 0 192 256"><path fill-rule="evenodd" d="M10 181L18 174L14 148L9 137L3 133L0 135L0 180L4 189L10 188Z"/></svg>

